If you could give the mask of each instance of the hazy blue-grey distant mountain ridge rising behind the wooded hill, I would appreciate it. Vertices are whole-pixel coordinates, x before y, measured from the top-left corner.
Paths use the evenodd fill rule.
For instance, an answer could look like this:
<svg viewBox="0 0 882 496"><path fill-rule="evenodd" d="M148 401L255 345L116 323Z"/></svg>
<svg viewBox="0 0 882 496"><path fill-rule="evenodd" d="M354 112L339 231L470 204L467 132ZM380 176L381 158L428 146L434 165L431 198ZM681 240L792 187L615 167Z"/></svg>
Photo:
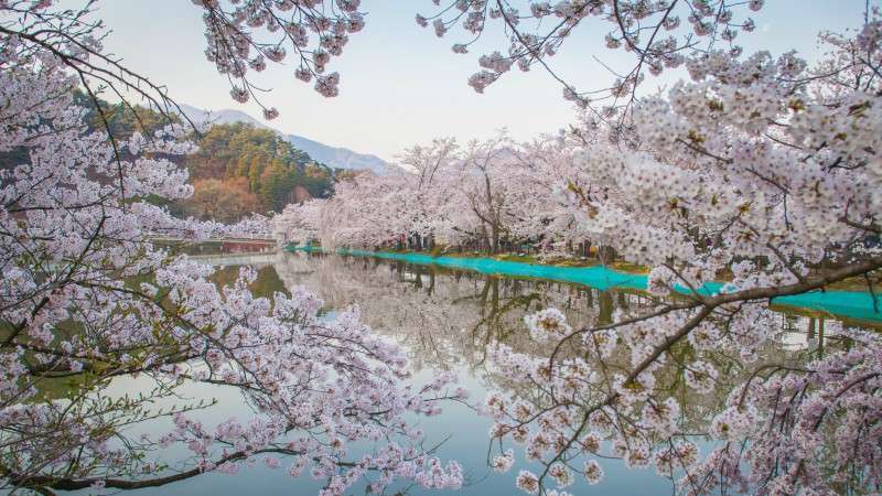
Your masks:
<svg viewBox="0 0 882 496"><path fill-rule="evenodd" d="M270 128L269 126L240 110L224 109L208 111L196 107L191 107L189 105L182 105L181 109L183 110L184 115L194 123L203 123L207 121L213 123L246 122L256 128L270 129L278 132L279 136L284 138L284 140L291 143L294 148L303 150L314 160L331 168L368 170L381 175L387 172L389 166L385 160L377 155L358 153L349 150L348 148L331 147L302 136L286 134L278 129Z"/></svg>

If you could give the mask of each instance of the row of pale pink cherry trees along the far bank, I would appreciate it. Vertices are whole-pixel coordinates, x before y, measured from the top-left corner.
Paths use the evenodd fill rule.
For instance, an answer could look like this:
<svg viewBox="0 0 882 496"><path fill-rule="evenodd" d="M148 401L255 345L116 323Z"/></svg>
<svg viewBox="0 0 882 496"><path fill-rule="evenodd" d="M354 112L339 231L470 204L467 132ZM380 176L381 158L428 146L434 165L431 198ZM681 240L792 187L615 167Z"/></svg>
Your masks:
<svg viewBox="0 0 882 496"><path fill-rule="evenodd" d="M289 240L327 247L417 236L497 252L503 244L582 240L587 233L556 200L561 177L573 176L580 144L566 134L529 143L504 133L465 145L434 140L407 150L389 174L358 174L341 181L331 198L287 207L276 228Z"/></svg>

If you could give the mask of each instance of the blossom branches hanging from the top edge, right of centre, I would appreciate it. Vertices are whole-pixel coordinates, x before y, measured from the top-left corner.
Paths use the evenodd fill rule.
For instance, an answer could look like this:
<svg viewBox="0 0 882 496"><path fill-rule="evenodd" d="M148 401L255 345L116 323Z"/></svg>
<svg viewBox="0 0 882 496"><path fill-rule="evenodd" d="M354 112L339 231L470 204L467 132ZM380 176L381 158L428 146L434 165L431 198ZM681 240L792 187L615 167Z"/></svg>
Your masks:
<svg viewBox="0 0 882 496"><path fill-rule="evenodd" d="M484 93L512 66L523 72L539 66L563 85L566 99L581 108L594 106L600 116L612 117L620 107L627 108L634 103L635 88L646 73L657 76L665 68L680 67L689 53L699 46L719 46L722 41L729 54L740 54L742 48L734 43L738 34L755 29L754 21L743 14L761 10L764 2L451 0L434 3L438 6L435 13L418 14L417 24L423 28L431 24L438 37L460 26L469 41L455 43L454 53L469 53L472 44L490 35L487 32L494 24L504 28L507 53L495 51L478 57L481 69L469 78L469 85L475 91ZM619 77L605 89L578 91L558 76L549 58L568 44L580 24L588 24L592 19L607 23L609 31L603 37L607 48L630 52L637 62L630 71L611 71Z"/></svg>

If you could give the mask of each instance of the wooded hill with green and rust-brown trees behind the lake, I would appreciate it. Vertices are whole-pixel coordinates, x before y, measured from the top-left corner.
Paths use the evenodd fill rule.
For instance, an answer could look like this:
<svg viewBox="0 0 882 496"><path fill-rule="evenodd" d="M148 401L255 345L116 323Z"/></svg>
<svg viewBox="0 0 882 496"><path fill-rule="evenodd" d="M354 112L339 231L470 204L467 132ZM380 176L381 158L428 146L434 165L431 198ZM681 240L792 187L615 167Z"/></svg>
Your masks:
<svg viewBox="0 0 882 496"><path fill-rule="evenodd" d="M104 122L90 100L76 101L89 108L86 121L103 129ZM116 136L133 131L153 132L166 120L159 114L103 103L107 122ZM333 171L295 149L277 133L248 123L215 125L193 140L200 149L182 165L190 171L193 197L169 204L175 214L236 222L251 213L281 212L289 203L325 197L333 190Z"/></svg>

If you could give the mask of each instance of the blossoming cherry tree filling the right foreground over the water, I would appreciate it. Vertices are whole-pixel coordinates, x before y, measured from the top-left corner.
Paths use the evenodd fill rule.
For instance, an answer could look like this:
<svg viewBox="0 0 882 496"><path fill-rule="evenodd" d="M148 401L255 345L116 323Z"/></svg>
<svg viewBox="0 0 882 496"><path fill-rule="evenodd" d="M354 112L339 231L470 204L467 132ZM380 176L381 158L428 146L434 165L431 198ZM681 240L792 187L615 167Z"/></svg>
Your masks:
<svg viewBox="0 0 882 496"><path fill-rule="evenodd" d="M590 182L561 190L581 228L653 267L650 293L681 295L583 328L539 312L526 323L553 343L549 359L499 348L501 367L546 391L528 410L502 396L486 402L494 436L526 442L544 463L517 476L521 489L560 490L573 471L598 482L592 453L654 465L689 494L879 486L878 334L847 331L845 346L799 362L757 359L774 334L771 298L848 278L874 294L882 22L868 14L852 36L821 35L830 53L815 68L792 53L686 57L691 80L635 104L637 145L581 148ZM706 287L727 271L719 291ZM630 359L584 358L617 353ZM666 392L679 381L728 391L706 455ZM514 455L499 456L505 467Z"/></svg>

